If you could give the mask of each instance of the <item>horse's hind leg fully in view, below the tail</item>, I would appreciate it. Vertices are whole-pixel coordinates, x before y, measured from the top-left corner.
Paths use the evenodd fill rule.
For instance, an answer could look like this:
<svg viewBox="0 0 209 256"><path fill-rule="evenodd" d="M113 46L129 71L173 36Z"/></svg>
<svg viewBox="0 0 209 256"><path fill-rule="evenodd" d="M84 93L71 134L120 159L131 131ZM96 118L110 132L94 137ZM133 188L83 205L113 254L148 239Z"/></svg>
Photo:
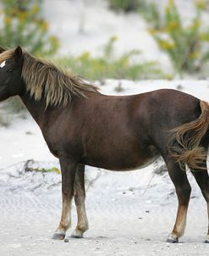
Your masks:
<svg viewBox="0 0 209 256"><path fill-rule="evenodd" d="M167 241L179 242L179 237L184 235L191 187L186 172L180 169L179 164L174 163L173 160L168 160L167 167L179 200L175 225L173 226L173 231L169 235Z"/></svg>

